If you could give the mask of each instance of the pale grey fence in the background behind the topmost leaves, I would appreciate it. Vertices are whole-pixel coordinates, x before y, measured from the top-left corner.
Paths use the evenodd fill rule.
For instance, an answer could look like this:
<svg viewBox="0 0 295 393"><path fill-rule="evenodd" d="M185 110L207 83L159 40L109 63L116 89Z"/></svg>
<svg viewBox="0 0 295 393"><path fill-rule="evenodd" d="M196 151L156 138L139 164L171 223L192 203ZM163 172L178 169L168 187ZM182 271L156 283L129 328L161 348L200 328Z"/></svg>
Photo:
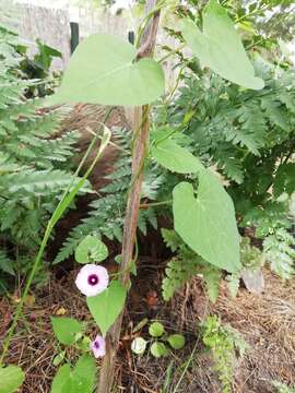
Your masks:
<svg viewBox="0 0 295 393"><path fill-rule="evenodd" d="M69 11L32 4L19 4L17 22L20 36L30 45L32 52L35 50L34 41L36 38L62 52L62 60L55 60L52 69L63 70L70 59ZM127 39L128 25L127 21L121 16L80 8L79 24L81 39L94 33L115 34ZM160 31L157 41L173 48L177 45L163 31ZM169 60L164 67L166 69L167 84L173 84L175 81L175 73L172 70L173 63Z"/></svg>

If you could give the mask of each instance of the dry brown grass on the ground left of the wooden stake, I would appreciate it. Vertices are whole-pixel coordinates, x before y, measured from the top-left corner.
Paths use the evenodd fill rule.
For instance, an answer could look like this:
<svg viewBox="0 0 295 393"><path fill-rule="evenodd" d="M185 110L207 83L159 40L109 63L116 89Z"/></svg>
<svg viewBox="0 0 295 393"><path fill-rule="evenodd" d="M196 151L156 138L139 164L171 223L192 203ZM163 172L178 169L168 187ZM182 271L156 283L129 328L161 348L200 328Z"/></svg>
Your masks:
<svg viewBox="0 0 295 393"><path fill-rule="evenodd" d="M10 354L7 357L8 364L21 366L26 371L25 383L22 393L49 392L52 376L56 368L52 359L58 353L55 341L50 317L56 315L58 310L64 308L67 317L74 317L80 320L90 318L84 301L76 291L69 288L63 282L51 281L48 286L38 290L33 306L26 306L20 319L16 332L11 342ZM0 302L1 331L3 337L12 320L15 303L8 298ZM70 359L75 358L75 353L68 354Z"/></svg>

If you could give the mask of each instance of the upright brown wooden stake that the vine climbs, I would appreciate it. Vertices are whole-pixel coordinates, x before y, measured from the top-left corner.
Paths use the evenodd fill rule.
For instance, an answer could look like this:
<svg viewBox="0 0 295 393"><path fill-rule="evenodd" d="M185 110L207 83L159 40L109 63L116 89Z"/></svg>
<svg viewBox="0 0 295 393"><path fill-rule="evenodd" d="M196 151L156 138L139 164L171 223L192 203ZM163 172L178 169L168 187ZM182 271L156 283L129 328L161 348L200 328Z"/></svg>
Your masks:
<svg viewBox="0 0 295 393"><path fill-rule="evenodd" d="M157 0L148 0L145 15L150 16L150 22L145 25L141 35L138 59L152 57L160 20L160 8ZM146 16L145 16L146 20ZM133 249L137 239L138 215L140 210L140 195L143 179L144 158L146 154L150 121L150 107L137 107L134 110L133 123L133 148L132 148L132 179L130 192L128 194L127 211L125 216L123 239L122 239L122 263L119 272L121 282L125 286L130 281L130 267L133 261ZM123 311L117 318L106 335L106 355L101 368L97 393L110 393L114 383L115 362L119 346Z"/></svg>

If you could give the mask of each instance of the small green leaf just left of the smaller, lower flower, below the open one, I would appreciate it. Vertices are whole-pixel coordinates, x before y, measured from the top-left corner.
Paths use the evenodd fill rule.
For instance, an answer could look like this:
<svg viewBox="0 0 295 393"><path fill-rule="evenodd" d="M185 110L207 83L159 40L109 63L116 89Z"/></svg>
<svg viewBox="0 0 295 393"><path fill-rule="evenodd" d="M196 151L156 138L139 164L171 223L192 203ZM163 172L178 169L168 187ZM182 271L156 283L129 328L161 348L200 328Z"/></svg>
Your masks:
<svg viewBox="0 0 295 393"><path fill-rule="evenodd" d="M83 330L83 324L72 318L51 317L52 329L57 340L64 345L75 342L75 335Z"/></svg>

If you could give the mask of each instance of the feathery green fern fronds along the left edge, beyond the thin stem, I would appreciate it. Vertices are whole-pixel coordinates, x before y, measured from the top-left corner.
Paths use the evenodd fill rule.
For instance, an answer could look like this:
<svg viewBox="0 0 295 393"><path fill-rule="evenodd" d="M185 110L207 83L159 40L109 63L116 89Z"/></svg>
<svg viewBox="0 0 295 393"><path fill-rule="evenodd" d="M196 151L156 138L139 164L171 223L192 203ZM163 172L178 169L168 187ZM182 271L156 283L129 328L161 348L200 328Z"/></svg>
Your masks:
<svg viewBox="0 0 295 393"><path fill-rule="evenodd" d="M37 58L37 55L35 59ZM71 181L76 132L58 134L67 109L43 110L26 98L46 84L28 79L17 35L0 26L0 274L26 272L46 222ZM32 62L32 60L30 60ZM48 70L47 70L48 71ZM44 71L45 78L48 73ZM33 76L33 75L32 75ZM38 94L38 90L36 91ZM35 92L35 93L36 93ZM1 279L1 278L0 278Z"/></svg>

